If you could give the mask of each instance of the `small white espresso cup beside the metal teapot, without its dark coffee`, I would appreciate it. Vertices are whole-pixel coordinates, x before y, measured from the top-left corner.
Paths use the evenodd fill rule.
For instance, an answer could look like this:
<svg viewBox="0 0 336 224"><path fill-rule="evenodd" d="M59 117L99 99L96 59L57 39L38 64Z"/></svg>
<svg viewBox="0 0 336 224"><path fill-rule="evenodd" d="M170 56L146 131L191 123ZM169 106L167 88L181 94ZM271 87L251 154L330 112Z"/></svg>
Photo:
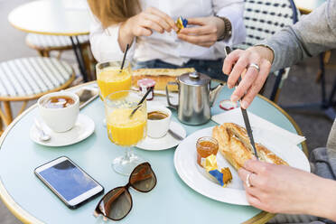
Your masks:
<svg viewBox="0 0 336 224"><path fill-rule="evenodd" d="M160 138L167 134L169 126L171 124L172 111L167 107L156 106L147 108L147 113L154 111L161 112L167 117L160 120L147 120L147 135L152 138Z"/></svg>

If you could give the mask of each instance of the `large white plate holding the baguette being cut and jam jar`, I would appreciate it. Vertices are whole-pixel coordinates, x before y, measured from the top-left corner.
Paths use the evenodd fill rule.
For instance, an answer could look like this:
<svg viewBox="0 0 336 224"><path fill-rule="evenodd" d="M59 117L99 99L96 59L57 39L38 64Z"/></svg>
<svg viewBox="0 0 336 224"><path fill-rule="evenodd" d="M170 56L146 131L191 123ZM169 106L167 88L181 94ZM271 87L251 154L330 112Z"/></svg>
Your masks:
<svg viewBox="0 0 336 224"><path fill-rule="evenodd" d="M226 188L221 187L216 182L211 182L202 174L196 163L196 141L201 136L211 136L212 128L201 129L187 138L176 148L174 154L174 165L176 172L179 173L183 182L188 184L191 189L198 191L202 195L216 201L227 202L238 205L248 205L243 182L238 177L237 171L220 154L217 154L219 167L228 167L232 173L232 182ZM254 132L257 143L265 145L268 149L280 156L289 165L310 172L310 165L307 157L297 145L290 145L285 141L278 142L258 135L261 132Z"/></svg>

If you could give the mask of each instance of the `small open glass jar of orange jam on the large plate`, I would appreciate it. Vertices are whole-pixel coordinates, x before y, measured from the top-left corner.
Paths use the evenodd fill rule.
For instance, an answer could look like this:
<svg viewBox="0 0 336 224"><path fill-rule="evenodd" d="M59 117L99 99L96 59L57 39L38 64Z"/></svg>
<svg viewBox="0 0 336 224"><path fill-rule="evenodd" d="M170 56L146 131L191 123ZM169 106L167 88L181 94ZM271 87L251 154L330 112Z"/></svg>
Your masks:
<svg viewBox="0 0 336 224"><path fill-rule="evenodd" d="M213 137L200 137L199 140L197 140L196 149L197 163L201 165L202 159L204 160L210 154L217 154L217 152L219 151L219 143Z"/></svg>

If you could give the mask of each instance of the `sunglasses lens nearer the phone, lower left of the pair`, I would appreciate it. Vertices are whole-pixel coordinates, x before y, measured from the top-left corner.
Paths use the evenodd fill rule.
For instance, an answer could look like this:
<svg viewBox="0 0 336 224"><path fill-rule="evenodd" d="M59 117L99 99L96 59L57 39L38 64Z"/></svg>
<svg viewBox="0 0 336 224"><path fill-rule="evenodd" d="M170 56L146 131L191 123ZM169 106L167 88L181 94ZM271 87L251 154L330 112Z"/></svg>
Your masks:
<svg viewBox="0 0 336 224"><path fill-rule="evenodd" d="M123 219L132 209L132 198L124 187L116 188L104 196L98 207L110 219Z"/></svg>

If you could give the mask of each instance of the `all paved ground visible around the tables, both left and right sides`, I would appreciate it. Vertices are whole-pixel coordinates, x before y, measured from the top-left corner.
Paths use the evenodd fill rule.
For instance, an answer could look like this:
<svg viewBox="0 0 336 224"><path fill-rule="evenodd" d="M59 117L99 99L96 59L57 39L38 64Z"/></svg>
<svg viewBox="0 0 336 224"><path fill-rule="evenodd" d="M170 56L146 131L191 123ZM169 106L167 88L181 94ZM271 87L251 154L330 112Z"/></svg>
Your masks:
<svg viewBox="0 0 336 224"><path fill-rule="evenodd" d="M26 56L36 56L36 51L29 49L24 43L25 33L15 30L7 22L7 14L17 5L21 5L27 0L0 0L0 61L15 59ZM336 55L336 52L333 53ZM71 52L66 53L64 58L73 62ZM335 59L331 59L336 64ZM297 103L319 102L321 100L321 88L319 84L314 82L318 68L316 58L309 59L292 67L290 76L285 80L284 88L282 89L279 104L293 105ZM336 70L327 70L327 89L331 89L331 84ZM273 86L274 77L271 77L266 87L266 97L269 97ZM32 102L33 103L33 102ZM18 105L14 106L17 111ZM294 120L303 130L303 135L307 137L307 145L310 150L315 147L323 146L326 143L331 121L322 117L319 113L294 113L289 114L294 117ZM5 208L5 205L0 202L0 223L14 224L20 223L18 219Z"/></svg>

